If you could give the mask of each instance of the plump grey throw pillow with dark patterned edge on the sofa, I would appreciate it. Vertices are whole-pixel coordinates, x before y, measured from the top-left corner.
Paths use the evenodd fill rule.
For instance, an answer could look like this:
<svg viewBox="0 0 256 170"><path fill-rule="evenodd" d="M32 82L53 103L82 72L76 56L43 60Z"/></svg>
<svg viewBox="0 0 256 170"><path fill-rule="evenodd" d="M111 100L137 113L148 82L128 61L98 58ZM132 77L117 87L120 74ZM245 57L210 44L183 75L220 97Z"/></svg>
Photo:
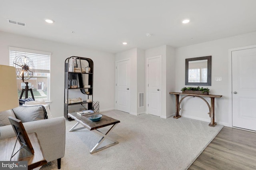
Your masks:
<svg viewBox="0 0 256 170"><path fill-rule="evenodd" d="M16 118L22 123L48 119L46 110L42 105L19 106L12 110Z"/></svg>

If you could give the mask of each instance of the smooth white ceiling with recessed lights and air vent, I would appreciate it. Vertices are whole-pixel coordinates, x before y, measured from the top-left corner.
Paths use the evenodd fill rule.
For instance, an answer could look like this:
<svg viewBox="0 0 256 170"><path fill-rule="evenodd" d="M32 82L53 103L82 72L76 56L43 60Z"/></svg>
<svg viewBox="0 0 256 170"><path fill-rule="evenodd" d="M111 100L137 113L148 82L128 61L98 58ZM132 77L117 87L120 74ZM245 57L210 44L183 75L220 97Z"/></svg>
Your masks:
<svg viewBox="0 0 256 170"><path fill-rule="evenodd" d="M0 31L116 53L254 32L255 8L256 0L0 0Z"/></svg>

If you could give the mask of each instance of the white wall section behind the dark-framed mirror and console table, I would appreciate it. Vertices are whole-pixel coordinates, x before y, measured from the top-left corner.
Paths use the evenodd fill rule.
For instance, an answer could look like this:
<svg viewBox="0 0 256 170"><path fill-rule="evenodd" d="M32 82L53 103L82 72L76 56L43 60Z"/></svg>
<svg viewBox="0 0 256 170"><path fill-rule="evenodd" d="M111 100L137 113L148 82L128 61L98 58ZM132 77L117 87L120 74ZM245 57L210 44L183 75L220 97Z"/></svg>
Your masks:
<svg viewBox="0 0 256 170"><path fill-rule="evenodd" d="M229 122L229 73L228 69L228 49L244 47L256 44L256 32L243 34L230 38L224 38L211 42L180 47L176 53L176 92L180 92L185 86L185 59L192 57L203 57L212 55L212 86L205 86L210 89L210 94L222 95L215 99L216 122L230 126ZM214 77L222 77L222 81L215 81ZM210 99L207 99L210 102ZM200 109L200 105L203 109ZM186 98L182 101L181 115L194 119L210 122L208 107L202 99Z"/></svg>

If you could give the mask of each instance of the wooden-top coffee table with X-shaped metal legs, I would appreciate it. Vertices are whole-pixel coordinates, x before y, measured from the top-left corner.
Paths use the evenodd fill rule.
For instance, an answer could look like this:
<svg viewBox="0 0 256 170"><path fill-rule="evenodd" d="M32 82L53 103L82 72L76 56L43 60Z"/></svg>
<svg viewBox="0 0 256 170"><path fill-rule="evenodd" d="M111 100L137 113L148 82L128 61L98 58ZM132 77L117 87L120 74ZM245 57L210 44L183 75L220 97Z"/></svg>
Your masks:
<svg viewBox="0 0 256 170"><path fill-rule="evenodd" d="M116 119L113 119L111 117L108 117L106 115L102 115L102 118L100 119L100 121L97 121L97 122L93 122L91 121L90 119L88 119L88 117L91 117L92 115L97 115L99 113L92 113L92 114L88 114L88 115L80 115L76 112L73 112L73 113L68 113L68 116L71 117L72 119L74 119L75 121L77 121L76 125L74 125L69 131L72 132L72 131L75 131L75 130L80 130L82 128L88 128L88 130L92 130L93 132L99 134L100 136L102 136L102 138L100 139L100 141L92 148L92 150L90 151L90 154L93 154L95 152L98 152L100 150L103 150L103 149L106 149L110 146L113 146L113 145L116 145L118 144L119 142L110 138L108 136L109 132L111 132L118 123L120 123L120 121L116 120ZM83 125L84 127L81 127L81 128L76 128L77 125ZM98 128L102 128L102 127L107 127L107 126L110 126L110 129L106 132L106 133L102 133L98 130ZM100 144L102 144L102 142L105 140L105 139L108 139L108 140L111 140L113 143L111 144L108 144L106 146L103 146L101 148L98 148L100 146Z"/></svg>

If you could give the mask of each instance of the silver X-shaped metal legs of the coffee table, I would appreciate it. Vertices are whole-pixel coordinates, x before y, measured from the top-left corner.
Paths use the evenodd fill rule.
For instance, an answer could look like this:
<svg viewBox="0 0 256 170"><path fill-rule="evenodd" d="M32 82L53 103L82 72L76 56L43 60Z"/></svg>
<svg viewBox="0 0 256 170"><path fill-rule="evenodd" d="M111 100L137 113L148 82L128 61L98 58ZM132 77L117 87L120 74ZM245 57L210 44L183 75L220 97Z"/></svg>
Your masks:
<svg viewBox="0 0 256 170"><path fill-rule="evenodd" d="M74 125L69 131L72 132L72 131L75 131L75 130L80 130L80 129L85 128L85 127L76 128L76 126L77 126L78 124L79 124L79 122L76 123L76 125ZM116 144L119 143L118 141L116 141L116 140L114 140L114 139L112 139L112 138L110 138L110 137L108 136L108 133L111 132L111 131L116 127L116 125L117 125L117 123L114 124L114 125L112 125L112 127L110 127L110 129L108 130L108 132L106 132L105 134L102 133L102 132L100 132L100 131L97 130L97 129L92 130L93 132L95 132L95 133L97 133L97 134L99 134L100 136L103 136L103 137L102 137L102 138L99 140L99 142L92 148L92 150L90 151L90 154L93 154L93 153L98 152L98 151L100 151L100 150L109 148L110 146L113 146L113 145L116 145ZM75 129L75 128L76 128L76 129ZM114 142L114 143L111 143L111 144L108 144L108 145L103 146L103 147L101 147L101 148L98 148L98 147L100 146L100 144L102 144L102 142L103 142L106 138L107 138L108 140L111 140L111 141Z"/></svg>

